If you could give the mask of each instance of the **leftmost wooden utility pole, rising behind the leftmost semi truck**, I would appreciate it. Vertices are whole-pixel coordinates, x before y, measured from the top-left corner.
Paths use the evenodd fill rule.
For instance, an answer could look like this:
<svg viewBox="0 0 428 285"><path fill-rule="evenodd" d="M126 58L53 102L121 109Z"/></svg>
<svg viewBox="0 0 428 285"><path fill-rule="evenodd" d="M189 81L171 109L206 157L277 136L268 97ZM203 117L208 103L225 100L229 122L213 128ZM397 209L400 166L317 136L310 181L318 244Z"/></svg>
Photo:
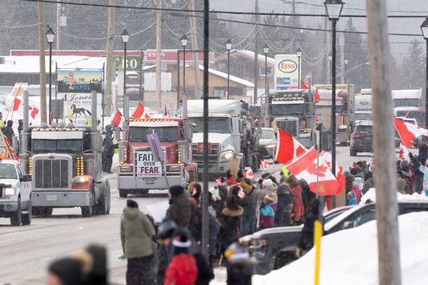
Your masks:
<svg viewBox="0 0 428 285"><path fill-rule="evenodd" d="M45 66L45 32L43 26L43 3L38 3L39 19L39 63L40 63L40 122L47 123L46 116L46 66Z"/></svg>

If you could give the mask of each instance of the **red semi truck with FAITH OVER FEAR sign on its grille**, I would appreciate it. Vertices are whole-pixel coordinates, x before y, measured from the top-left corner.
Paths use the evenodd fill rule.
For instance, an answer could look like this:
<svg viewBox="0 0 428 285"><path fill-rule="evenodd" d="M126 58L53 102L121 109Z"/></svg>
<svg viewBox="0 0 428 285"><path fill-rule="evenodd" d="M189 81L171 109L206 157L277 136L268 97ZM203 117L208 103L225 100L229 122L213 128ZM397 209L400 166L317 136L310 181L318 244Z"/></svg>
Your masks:
<svg viewBox="0 0 428 285"><path fill-rule="evenodd" d="M184 118L130 118L119 144L118 190L120 197L147 194L172 185L197 180L192 160L192 128ZM148 135L157 134L164 161L156 161Z"/></svg>

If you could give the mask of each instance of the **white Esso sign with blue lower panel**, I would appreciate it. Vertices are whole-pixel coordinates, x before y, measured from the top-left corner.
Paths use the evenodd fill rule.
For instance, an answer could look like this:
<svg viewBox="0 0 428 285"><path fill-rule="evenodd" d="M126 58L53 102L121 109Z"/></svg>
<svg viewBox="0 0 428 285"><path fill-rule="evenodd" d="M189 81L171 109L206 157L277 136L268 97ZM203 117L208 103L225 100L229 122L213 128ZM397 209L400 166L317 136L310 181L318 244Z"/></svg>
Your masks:
<svg viewBox="0 0 428 285"><path fill-rule="evenodd" d="M275 90L299 89L299 58L296 54L275 56Z"/></svg>

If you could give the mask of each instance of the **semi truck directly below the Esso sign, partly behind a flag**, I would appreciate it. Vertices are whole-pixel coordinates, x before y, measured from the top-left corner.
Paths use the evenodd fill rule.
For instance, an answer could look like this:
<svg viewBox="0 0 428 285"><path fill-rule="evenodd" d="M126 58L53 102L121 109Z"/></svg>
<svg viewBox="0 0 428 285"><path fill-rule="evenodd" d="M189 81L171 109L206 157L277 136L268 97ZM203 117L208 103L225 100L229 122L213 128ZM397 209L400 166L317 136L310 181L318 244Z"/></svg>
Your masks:
<svg viewBox="0 0 428 285"><path fill-rule="evenodd" d="M285 130L303 146L316 144L315 100L310 89L287 89L269 93L265 124Z"/></svg>

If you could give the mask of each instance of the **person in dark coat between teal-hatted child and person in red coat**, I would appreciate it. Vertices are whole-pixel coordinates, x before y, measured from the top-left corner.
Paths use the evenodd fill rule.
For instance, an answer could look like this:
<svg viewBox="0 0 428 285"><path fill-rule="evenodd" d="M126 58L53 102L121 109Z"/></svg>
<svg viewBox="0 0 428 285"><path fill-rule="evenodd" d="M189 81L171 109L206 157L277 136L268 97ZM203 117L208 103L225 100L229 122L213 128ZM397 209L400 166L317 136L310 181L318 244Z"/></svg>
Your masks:
<svg viewBox="0 0 428 285"><path fill-rule="evenodd" d="M293 206L293 195L288 184L281 184L276 188L278 203L276 205L274 226L290 225Z"/></svg>

